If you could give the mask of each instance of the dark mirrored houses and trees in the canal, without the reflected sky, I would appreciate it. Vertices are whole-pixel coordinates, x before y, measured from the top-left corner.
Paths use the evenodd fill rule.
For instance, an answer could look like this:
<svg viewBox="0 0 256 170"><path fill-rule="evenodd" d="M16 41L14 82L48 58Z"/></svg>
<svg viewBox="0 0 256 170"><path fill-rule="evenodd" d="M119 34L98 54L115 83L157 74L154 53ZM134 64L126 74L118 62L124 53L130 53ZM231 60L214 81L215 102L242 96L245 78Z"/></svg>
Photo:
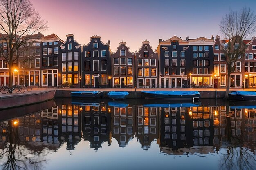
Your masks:
<svg viewBox="0 0 256 170"><path fill-rule="evenodd" d="M75 150L82 140L97 151L113 140L128 147L134 138L142 150L150 150L157 141L159 152L167 155L216 153L220 169L256 166L254 106L63 99L0 126L1 169L43 168L46 155L61 147Z"/></svg>

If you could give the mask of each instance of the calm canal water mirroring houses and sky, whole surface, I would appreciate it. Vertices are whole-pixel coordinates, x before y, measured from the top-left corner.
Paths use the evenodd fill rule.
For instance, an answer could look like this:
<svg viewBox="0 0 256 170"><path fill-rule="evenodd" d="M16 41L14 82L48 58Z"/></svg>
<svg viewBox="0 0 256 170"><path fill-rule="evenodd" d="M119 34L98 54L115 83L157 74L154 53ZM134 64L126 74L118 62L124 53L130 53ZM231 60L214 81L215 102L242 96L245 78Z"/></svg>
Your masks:
<svg viewBox="0 0 256 170"><path fill-rule="evenodd" d="M0 110L0 169L255 170L256 103L56 99Z"/></svg>

